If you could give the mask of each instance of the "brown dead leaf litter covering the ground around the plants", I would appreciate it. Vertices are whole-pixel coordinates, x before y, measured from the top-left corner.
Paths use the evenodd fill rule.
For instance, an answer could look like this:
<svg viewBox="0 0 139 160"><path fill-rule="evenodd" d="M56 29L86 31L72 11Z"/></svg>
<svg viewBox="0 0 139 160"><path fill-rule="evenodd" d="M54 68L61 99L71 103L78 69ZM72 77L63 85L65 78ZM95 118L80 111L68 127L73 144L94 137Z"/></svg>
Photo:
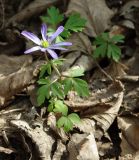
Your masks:
<svg viewBox="0 0 139 160"><path fill-rule="evenodd" d="M111 4L110 8L108 3ZM17 33L24 27L19 22L27 25L28 20L33 16L41 16L40 13L48 6L57 5L63 10L61 2L56 0L25 2L23 8L21 4L16 5L16 10L22 8L19 13L11 12L13 4L9 3L7 8L8 1L4 3L8 12L5 12L6 23L3 26L16 27ZM81 67L86 73L84 78L89 83L90 97L82 98L70 92L65 99L69 109L79 113L82 123L75 125L72 132L65 133L63 129L57 128L57 117L48 114L45 106L34 106L36 75L39 73L38 66L44 63L43 56L21 55L23 46L13 49L14 45L0 33L0 159L137 160L139 1L122 1L116 5L115 1L110 0L107 3L104 0L71 0L65 5L66 17L78 12L87 20L85 30L69 38L74 46L62 52L66 61L60 68L63 74L69 73L74 67ZM3 21L0 20L0 23ZM32 18L27 27L37 28L37 25ZM111 63L103 58L98 61L113 81L100 72L95 60L90 58L92 39L104 31L115 35L120 32L126 37L121 46L120 63ZM111 128L114 128L112 133ZM117 139L114 141L115 134Z"/></svg>

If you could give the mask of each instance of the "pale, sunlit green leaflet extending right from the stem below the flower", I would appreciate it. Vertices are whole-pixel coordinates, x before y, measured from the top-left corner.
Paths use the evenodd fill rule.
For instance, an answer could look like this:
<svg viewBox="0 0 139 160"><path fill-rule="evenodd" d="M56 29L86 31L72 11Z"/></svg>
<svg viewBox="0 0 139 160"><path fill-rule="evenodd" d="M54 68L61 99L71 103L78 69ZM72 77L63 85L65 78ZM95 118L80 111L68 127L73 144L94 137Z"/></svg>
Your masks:
<svg viewBox="0 0 139 160"><path fill-rule="evenodd" d="M68 75L69 77L80 77L84 75L84 68L83 67L79 67L79 66L75 66L72 67L71 69L69 69L68 71Z"/></svg>

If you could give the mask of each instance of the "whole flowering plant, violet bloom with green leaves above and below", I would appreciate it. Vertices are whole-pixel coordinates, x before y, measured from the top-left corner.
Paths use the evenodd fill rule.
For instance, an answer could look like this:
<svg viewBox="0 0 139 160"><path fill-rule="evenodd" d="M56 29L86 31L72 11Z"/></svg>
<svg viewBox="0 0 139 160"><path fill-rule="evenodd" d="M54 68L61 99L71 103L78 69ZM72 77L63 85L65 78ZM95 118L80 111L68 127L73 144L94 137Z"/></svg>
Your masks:
<svg viewBox="0 0 139 160"><path fill-rule="evenodd" d="M64 19L64 15L60 11L51 7L47 10L46 16L41 16L41 20L50 25L48 29L43 23L41 27L42 38L39 39L33 33L22 31L22 35L33 41L36 46L25 51L25 54L41 50L44 52L46 64L40 67L40 74L37 91L38 105L41 106L45 102L49 102L48 112L54 112L57 118L57 127L63 127L65 132L73 129L75 123L80 122L80 117L77 113L69 111L68 106L64 104L64 99L69 91L75 91L79 96L89 96L89 88L86 81L80 77L84 75L84 70L81 67L73 67L66 73L59 71L59 66L63 64L64 59L58 58L55 50L66 50L63 46L70 46L72 43L64 42L72 32L81 32L86 20L75 13L69 16L64 26L58 26ZM55 31L55 29L58 29ZM49 59L47 52L53 59ZM55 76L52 75L55 72Z"/></svg>

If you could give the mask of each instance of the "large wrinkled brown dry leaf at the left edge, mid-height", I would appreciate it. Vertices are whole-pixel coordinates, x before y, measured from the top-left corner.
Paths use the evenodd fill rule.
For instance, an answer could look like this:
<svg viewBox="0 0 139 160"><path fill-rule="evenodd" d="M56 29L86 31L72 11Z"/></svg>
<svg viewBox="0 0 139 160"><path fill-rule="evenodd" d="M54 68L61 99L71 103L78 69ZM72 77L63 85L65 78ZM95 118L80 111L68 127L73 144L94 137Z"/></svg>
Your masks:
<svg viewBox="0 0 139 160"><path fill-rule="evenodd" d="M0 106L31 83L34 70L31 63L31 56L0 55Z"/></svg>

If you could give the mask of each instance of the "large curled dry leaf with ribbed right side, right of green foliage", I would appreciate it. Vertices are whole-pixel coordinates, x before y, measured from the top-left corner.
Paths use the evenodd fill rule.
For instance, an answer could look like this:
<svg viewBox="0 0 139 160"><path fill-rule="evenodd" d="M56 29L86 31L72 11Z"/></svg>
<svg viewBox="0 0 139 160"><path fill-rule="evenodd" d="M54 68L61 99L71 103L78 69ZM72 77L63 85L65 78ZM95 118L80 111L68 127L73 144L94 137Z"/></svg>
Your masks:
<svg viewBox="0 0 139 160"><path fill-rule="evenodd" d="M65 101L72 110L80 111L82 117L89 118L89 120L83 118L82 126L79 124L76 127L84 133L93 132L95 128L95 136L101 138L118 114L123 101L123 89L123 84L116 81L108 88L92 93L89 99L78 99L77 101L77 98L74 97L72 101Z"/></svg>

